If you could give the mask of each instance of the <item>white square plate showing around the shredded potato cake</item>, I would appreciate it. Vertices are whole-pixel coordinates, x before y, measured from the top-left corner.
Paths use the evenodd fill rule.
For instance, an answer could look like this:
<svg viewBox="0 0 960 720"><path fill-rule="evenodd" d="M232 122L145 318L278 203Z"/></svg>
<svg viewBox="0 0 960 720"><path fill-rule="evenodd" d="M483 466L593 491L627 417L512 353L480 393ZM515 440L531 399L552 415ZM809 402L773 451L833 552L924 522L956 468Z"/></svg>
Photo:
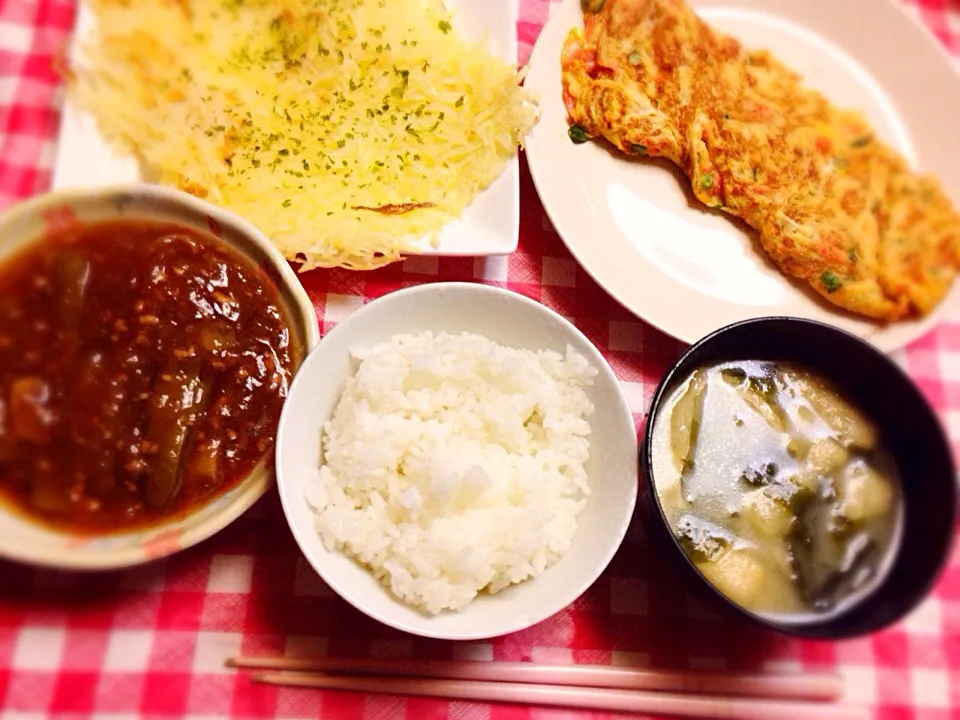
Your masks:
<svg viewBox="0 0 960 720"><path fill-rule="evenodd" d="M490 51L507 62L517 58L519 0L447 0L457 32L467 40L486 37ZM95 17L86 2L80 4L75 38L87 36ZM71 61L79 58L77 42ZM69 99L64 103L60 137L53 163L53 188L88 188L147 180L136 160L118 156L106 143L92 116ZM514 157L503 174L482 192L460 218L448 224L433 247L424 241L423 255L506 255L517 249L520 223L520 169Z"/></svg>

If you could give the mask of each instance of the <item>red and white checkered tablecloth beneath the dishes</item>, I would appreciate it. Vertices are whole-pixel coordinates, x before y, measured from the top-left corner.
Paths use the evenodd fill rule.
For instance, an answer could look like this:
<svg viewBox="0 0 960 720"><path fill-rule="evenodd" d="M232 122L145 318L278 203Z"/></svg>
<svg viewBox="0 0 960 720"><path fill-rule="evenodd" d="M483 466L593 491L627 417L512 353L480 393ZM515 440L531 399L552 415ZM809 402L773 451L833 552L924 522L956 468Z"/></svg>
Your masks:
<svg viewBox="0 0 960 720"><path fill-rule="evenodd" d="M906 2L960 58L960 3ZM521 60L550 7L549 0L521 0ZM74 0L0 0L0 209L49 184L61 101L51 61L75 12ZM520 250L509 260L414 258L367 274L310 273L302 279L322 325L401 286L481 279L507 286L559 310L590 337L623 381L639 422L644 399L680 346L628 314L578 268L523 167ZM960 317L901 358L960 449ZM230 655L287 653L837 668L846 679L846 701L871 708L878 718L960 718L960 551L907 620L841 643L785 639L721 616L689 597L646 552L642 529L634 527L583 597L524 632L466 644L423 640L367 619L326 588L302 560L273 492L213 539L133 571L71 575L0 564L0 717L606 717L266 688L223 668Z"/></svg>

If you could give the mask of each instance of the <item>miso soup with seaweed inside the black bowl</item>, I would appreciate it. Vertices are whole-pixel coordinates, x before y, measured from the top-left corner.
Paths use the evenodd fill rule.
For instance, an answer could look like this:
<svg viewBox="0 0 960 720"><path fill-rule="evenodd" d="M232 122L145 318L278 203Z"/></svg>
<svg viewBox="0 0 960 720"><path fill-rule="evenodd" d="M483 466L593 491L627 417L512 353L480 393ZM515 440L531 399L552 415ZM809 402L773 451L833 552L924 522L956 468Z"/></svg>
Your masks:
<svg viewBox="0 0 960 720"><path fill-rule="evenodd" d="M660 504L724 595L802 621L882 579L902 516L896 466L829 382L795 365L729 362L696 370L661 407Z"/></svg>

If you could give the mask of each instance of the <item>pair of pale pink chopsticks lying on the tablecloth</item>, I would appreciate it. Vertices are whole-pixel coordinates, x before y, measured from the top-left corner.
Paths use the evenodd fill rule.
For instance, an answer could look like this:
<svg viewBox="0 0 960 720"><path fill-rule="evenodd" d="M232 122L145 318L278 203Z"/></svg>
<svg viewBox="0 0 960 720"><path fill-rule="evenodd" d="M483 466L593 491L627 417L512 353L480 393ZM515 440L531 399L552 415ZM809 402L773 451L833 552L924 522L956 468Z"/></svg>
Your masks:
<svg viewBox="0 0 960 720"><path fill-rule="evenodd" d="M666 672L605 665L442 660L237 657L257 683L348 692L551 705L729 720L847 720L862 711L829 704L835 674Z"/></svg>

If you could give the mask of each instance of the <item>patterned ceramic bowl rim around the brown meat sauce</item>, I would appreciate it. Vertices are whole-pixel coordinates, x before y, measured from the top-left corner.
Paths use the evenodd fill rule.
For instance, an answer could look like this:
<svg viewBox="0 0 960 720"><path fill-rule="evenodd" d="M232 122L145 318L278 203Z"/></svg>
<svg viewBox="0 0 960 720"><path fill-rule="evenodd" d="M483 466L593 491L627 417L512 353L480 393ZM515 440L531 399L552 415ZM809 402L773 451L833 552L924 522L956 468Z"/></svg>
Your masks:
<svg viewBox="0 0 960 720"><path fill-rule="evenodd" d="M303 348L295 369L317 344L320 333L313 306L270 240L232 213L177 190L134 184L55 192L28 200L0 217L0 263L64 224L119 217L165 220L213 233L258 264L276 284L293 339ZM0 557L74 570L137 565L188 548L222 530L253 505L273 479L271 453L233 489L185 516L104 536L49 529L0 506Z"/></svg>

